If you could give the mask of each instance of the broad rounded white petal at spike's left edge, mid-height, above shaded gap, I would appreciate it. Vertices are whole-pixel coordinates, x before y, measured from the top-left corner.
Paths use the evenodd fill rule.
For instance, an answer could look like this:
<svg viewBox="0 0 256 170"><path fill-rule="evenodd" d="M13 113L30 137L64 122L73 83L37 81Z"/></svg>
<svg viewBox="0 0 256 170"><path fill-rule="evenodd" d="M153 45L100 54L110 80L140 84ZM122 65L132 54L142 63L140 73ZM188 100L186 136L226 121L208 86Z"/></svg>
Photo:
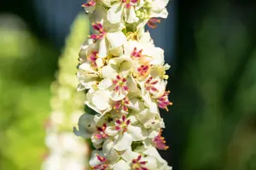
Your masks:
<svg viewBox="0 0 256 170"><path fill-rule="evenodd" d="M100 111L107 110L110 107L108 91L97 90L96 93L93 94L91 102Z"/></svg>

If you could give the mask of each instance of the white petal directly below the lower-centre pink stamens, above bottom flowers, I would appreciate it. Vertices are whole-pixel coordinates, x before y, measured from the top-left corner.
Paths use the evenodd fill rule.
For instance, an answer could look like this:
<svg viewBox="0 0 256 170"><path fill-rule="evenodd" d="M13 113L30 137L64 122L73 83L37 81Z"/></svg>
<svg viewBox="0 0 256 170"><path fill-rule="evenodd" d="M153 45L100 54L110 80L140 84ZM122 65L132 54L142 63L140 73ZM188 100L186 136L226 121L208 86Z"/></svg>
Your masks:
<svg viewBox="0 0 256 170"><path fill-rule="evenodd" d="M131 147L131 135L129 133L123 133L119 135L119 139L115 141L114 149L118 151L127 150Z"/></svg>

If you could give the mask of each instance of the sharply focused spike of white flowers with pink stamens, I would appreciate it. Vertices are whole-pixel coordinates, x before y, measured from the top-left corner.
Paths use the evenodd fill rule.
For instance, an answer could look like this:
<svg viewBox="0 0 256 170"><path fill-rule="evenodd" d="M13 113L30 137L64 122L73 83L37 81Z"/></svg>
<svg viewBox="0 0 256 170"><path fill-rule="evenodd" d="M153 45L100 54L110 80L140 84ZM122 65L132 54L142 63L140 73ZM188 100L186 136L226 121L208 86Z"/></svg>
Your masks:
<svg viewBox="0 0 256 170"><path fill-rule="evenodd" d="M170 170L157 149L166 150L161 109L166 91L164 51L144 26L166 18L168 0L90 0L83 7L93 33L79 53L78 90L96 115L84 114L74 133L91 139L95 170Z"/></svg>

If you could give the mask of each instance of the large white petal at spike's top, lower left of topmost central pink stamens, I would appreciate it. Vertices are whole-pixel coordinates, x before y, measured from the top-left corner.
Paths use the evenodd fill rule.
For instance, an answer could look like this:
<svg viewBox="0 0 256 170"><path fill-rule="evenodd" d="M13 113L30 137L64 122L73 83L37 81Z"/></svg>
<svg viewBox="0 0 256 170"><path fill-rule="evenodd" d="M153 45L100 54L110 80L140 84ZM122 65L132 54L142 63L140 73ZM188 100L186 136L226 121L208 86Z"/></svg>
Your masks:
<svg viewBox="0 0 256 170"><path fill-rule="evenodd" d="M124 4L122 1L114 3L111 8L108 9L107 19L110 23L116 24L122 20Z"/></svg>

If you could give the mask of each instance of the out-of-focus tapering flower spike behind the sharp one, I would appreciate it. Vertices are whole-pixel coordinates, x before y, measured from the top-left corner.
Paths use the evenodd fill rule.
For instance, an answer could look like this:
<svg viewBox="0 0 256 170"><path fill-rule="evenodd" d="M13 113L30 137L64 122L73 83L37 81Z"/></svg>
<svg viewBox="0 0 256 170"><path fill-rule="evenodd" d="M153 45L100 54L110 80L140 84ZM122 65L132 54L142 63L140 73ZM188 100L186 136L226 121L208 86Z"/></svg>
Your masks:
<svg viewBox="0 0 256 170"><path fill-rule="evenodd" d="M46 126L45 144L49 154L43 162L42 170L84 170L88 167L86 158L89 146L84 139L73 138L71 126L77 124L84 113L85 96L78 93L76 73L77 50L88 35L84 22L86 17L79 14L74 21L66 48L59 60L60 70L57 80L51 85L51 113Z"/></svg>

